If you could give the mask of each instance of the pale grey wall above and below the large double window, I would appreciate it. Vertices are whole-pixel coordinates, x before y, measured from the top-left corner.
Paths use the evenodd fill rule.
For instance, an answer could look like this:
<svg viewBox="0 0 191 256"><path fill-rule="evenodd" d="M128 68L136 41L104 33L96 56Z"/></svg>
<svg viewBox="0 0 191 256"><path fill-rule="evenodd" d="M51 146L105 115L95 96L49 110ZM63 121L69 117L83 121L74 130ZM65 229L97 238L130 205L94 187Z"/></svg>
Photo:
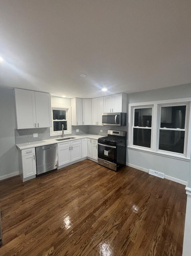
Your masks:
<svg viewBox="0 0 191 256"><path fill-rule="evenodd" d="M150 90L140 93L131 93L127 95L127 103L130 104L187 97L191 97L191 84L167 87L164 89ZM183 184L186 184L188 180L190 165L189 161L176 160L173 158L127 149L126 162L129 163L130 166L139 166L142 169L145 169L145 171L153 169L163 172L166 176L175 178L177 179L176 181L179 180L179 182Z"/></svg>

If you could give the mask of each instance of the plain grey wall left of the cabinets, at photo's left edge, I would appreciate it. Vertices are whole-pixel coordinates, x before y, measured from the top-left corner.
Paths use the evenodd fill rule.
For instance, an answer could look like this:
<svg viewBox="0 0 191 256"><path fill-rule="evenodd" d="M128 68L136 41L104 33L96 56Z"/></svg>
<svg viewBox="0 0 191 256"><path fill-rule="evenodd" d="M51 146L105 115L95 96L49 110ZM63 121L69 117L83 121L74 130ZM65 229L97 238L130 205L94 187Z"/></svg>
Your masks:
<svg viewBox="0 0 191 256"><path fill-rule="evenodd" d="M19 174L13 89L0 87L0 179Z"/></svg>

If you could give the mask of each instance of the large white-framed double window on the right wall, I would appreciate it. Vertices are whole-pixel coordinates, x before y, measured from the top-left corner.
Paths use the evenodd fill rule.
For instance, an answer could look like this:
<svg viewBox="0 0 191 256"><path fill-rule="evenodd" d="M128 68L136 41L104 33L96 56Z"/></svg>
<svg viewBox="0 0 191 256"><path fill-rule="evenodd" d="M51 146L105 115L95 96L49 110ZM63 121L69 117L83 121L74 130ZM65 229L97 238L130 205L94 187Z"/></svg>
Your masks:
<svg viewBox="0 0 191 256"><path fill-rule="evenodd" d="M128 147L190 158L189 120L190 98L129 104Z"/></svg>

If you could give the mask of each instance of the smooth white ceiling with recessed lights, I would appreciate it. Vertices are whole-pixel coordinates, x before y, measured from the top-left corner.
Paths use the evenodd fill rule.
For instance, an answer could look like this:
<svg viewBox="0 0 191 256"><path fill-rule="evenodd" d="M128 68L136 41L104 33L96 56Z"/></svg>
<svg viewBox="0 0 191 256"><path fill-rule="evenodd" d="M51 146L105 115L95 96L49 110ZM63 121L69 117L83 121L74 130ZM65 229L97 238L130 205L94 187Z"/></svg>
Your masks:
<svg viewBox="0 0 191 256"><path fill-rule="evenodd" d="M190 0L0 5L1 86L93 98L191 83Z"/></svg>

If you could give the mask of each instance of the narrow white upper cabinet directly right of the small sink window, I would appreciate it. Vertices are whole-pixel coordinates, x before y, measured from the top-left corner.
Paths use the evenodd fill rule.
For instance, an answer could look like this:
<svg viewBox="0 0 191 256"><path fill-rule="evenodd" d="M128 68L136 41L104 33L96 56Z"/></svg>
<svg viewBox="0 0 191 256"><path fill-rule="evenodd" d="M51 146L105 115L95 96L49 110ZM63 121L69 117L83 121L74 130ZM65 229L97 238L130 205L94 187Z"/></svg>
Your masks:
<svg viewBox="0 0 191 256"><path fill-rule="evenodd" d="M82 125L82 99L71 99L72 125Z"/></svg>

